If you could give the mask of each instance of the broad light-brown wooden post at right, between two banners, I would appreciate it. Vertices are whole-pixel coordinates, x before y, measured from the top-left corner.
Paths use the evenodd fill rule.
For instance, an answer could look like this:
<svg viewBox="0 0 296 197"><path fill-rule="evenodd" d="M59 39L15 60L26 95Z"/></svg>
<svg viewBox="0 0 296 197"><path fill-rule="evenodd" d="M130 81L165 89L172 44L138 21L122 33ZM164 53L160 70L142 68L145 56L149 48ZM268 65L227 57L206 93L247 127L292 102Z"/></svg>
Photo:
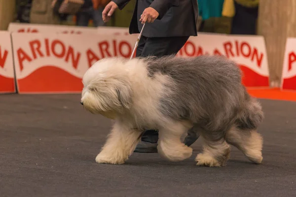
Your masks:
<svg viewBox="0 0 296 197"><path fill-rule="evenodd" d="M270 82L279 87L287 37L296 37L296 0L260 0L258 34L266 42Z"/></svg>

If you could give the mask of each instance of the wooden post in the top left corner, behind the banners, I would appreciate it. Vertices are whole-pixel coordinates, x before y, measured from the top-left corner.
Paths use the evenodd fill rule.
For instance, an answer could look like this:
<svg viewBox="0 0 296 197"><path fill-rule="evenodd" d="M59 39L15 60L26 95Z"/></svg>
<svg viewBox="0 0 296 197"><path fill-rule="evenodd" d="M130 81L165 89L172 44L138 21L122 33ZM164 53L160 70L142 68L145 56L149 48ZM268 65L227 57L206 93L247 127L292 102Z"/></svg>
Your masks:
<svg viewBox="0 0 296 197"><path fill-rule="evenodd" d="M0 0L0 30L7 30L15 15L15 0Z"/></svg>

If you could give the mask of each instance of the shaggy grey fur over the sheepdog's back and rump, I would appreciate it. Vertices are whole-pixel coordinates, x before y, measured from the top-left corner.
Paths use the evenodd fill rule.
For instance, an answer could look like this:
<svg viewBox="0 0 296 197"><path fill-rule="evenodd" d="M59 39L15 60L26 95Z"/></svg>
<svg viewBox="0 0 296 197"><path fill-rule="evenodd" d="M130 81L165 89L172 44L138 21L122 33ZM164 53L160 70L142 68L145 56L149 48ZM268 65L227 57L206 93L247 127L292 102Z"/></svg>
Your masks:
<svg viewBox="0 0 296 197"><path fill-rule="evenodd" d="M263 118L241 81L241 70L224 57L199 56L144 58L148 76L171 77L170 94L163 93L159 109L172 119L187 119L211 131L227 130L233 124L255 129Z"/></svg>

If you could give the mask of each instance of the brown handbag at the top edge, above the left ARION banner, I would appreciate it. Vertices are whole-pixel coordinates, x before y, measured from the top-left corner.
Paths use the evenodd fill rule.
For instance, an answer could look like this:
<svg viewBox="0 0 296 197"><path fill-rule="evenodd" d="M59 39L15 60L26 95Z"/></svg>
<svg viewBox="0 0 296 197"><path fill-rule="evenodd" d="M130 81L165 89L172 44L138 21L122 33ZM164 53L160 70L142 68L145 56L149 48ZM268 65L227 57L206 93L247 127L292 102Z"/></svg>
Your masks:
<svg viewBox="0 0 296 197"><path fill-rule="evenodd" d="M76 14L84 0L53 0L51 6L59 14Z"/></svg>

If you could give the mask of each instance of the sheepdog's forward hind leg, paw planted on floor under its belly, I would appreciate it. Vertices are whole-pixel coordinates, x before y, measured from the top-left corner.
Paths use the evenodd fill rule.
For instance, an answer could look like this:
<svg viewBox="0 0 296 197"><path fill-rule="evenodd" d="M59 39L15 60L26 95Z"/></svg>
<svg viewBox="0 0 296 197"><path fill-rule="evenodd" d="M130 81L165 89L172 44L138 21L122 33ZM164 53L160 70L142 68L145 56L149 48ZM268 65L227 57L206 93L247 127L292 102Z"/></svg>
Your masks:
<svg viewBox="0 0 296 197"><path fill-rule="evenodd" d="M230 157L230 145L225 141L223 131L201 130L204 139L203 153L196 156L196 165L221 167Z"/></svg>

